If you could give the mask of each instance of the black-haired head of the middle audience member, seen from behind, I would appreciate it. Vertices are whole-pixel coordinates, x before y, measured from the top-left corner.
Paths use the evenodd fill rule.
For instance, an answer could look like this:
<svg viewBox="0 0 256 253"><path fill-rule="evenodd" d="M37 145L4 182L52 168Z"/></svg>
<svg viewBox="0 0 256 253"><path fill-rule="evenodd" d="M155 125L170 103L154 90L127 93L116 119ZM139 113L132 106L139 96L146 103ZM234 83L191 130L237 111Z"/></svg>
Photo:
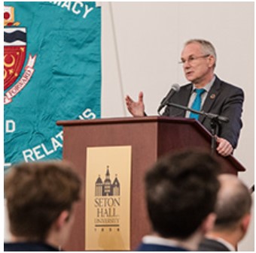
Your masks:
<svg viewBox="0 0 256 253"><path fill-rule="evenodd" d="M154 232L181 240L197 231L203 236L214 221L219 172L220 164L206 152L178 152L157 161L145 177Z"/></svg>

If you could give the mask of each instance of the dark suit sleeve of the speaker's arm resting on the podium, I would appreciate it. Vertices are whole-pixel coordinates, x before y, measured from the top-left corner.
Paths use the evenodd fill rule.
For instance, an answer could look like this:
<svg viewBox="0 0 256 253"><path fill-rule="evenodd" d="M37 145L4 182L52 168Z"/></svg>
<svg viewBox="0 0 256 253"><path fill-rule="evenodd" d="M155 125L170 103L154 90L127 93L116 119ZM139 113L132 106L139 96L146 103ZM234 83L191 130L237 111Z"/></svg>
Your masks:
<svg viewBox="0 0 256 253"><path fill-rule="evenodd" d="M221 109L221 116L227 116L230 121L221 124L219 136L228 140L235 149L238 143L240 130L242 128L242 104L244 93L242 89L233 89L233 92L227 96Z"/></svg>

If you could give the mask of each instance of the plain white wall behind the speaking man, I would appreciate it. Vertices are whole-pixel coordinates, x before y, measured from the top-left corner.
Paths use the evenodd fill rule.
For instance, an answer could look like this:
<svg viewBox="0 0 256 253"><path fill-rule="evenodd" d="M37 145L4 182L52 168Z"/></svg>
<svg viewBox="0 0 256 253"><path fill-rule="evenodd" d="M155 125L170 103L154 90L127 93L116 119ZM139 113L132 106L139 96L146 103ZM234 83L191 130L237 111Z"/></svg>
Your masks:
<svg viewBox="0 0 256 253"><path fill-rule="evenodd" d="M254 2L102 2L102 117L129 116L124 96L145 94L157 114L172 83L186 83L178 65L184 41L205 38L217 50L216 74L240 86L245 104L235 157L239 177L254 183ZM112 14L112 16L111 16ZM115 35L115 36L114 36ZM239 244L254 251L254 220Z"/></svg>

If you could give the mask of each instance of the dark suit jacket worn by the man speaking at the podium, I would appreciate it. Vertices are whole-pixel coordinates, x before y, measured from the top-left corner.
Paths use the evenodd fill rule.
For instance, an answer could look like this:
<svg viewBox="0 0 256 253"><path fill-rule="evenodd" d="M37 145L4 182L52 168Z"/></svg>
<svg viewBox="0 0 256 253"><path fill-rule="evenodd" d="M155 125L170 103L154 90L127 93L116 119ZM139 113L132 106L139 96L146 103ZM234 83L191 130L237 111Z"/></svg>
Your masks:
<svg viewBox="0 0 256 253"><path fill-rule="evenodd" d="M176 92L169 102L181 104L186 107L192 93L192 89L192 83L181 86L179 92ZM244 93L242 92L242 89L239 89L229 83L225 83L216 77L201 109L206 113L215 113L221 116L226 116L230 119L228 123L221 122L218 136L228 140L234 149L237 146L239 133L242 128L241 116L243 101ZM167 106L163 115L184 117L185 113L185 110ZM211 131L210 119L206 118L206 116L200 115L199 121L209 131Z"/></svg>

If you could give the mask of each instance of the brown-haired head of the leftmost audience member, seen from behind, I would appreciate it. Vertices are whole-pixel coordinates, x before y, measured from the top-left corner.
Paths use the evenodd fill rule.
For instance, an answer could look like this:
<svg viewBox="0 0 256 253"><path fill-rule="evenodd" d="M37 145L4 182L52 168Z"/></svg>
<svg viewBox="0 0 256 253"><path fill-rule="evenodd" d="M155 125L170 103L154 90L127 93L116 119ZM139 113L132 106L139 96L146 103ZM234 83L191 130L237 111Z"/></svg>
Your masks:
<svg viewBox="0 0 256 253"><path fill-rule="evenodd" d="M72 208L80 198L81 180L61 161L17 164L5 176L13 242L59 246L72 225Z"/></svg>

